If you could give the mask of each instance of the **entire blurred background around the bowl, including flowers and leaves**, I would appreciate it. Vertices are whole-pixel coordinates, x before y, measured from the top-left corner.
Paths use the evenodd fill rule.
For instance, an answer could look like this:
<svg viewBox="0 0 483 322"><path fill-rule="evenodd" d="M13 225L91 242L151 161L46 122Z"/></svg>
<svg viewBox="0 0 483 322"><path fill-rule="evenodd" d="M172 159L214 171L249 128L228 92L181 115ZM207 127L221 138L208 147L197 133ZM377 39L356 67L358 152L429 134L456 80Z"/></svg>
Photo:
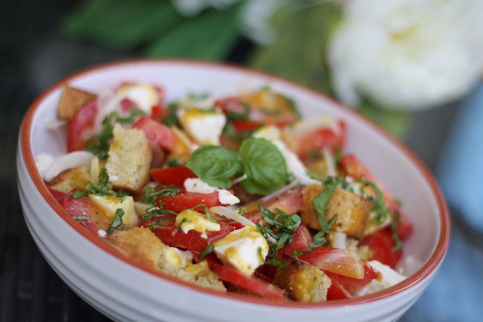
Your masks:
<svg viewBox="0 0 483 322"><path fill-rule="evenodd" d="M36 96L74 71L130 57L268 71L404 141L437 177L453 227L441 270L401 321L481 320L483 0L17 0L0 17L0 322L108 321L35 247L14 156Z"/></svg>

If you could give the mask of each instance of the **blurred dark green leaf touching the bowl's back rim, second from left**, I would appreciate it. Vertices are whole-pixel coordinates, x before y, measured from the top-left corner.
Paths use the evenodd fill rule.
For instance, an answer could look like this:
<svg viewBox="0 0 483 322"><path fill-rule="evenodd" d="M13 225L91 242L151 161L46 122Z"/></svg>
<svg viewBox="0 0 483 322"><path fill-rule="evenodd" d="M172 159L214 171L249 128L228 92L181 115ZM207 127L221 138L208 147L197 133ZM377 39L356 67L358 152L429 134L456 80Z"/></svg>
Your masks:
<svg viewBox="0 0 483 322"><path fill-rule="evenodd" d="M176 56L223 59L238 36L239 5L225 11L209 9L183 21L168 34L150 44L148 56Z"/></svg>

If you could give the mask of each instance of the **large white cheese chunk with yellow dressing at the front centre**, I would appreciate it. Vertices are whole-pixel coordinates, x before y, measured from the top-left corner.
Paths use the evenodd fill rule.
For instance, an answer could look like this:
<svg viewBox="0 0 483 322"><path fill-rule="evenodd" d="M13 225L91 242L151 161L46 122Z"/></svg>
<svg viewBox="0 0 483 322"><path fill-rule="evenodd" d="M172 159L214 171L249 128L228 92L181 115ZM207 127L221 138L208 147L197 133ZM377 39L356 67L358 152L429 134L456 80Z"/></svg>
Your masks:
<svg viewBox="0 0 483 322"><path fill-rule="evenodd" d="M213 245L216 256L223 263L247 275L252 275L263 264L269 249L267 240L254 226L232 231Z"/></svg>

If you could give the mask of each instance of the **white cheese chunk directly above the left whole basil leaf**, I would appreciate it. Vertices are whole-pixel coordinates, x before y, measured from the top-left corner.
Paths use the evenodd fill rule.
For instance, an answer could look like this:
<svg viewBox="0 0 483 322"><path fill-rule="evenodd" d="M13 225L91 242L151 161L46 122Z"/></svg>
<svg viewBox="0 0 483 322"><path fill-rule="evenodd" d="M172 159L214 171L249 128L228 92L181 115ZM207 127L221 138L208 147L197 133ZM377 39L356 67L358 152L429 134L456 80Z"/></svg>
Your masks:
<svg viewBox="0 0 483 322"><path fill-rule="evenodd" d="M198 144L220 144L226 116L219 110L180 110L178 118L184 130Z"/></svg>

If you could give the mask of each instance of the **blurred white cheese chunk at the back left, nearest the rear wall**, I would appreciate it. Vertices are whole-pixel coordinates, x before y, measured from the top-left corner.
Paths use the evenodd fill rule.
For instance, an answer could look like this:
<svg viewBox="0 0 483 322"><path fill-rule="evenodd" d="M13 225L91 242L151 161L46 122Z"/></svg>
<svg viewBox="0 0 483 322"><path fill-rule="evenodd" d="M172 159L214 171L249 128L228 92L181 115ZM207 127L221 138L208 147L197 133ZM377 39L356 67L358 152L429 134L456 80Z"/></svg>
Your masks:
<svg viewBox="0 0 483 322"><path fill-rule="evenodd" d="M159 104L159 94L156 88L149 84L123 85L117 90L117 94L131 100L147 114L151 114L151 108Z"/></svg>

